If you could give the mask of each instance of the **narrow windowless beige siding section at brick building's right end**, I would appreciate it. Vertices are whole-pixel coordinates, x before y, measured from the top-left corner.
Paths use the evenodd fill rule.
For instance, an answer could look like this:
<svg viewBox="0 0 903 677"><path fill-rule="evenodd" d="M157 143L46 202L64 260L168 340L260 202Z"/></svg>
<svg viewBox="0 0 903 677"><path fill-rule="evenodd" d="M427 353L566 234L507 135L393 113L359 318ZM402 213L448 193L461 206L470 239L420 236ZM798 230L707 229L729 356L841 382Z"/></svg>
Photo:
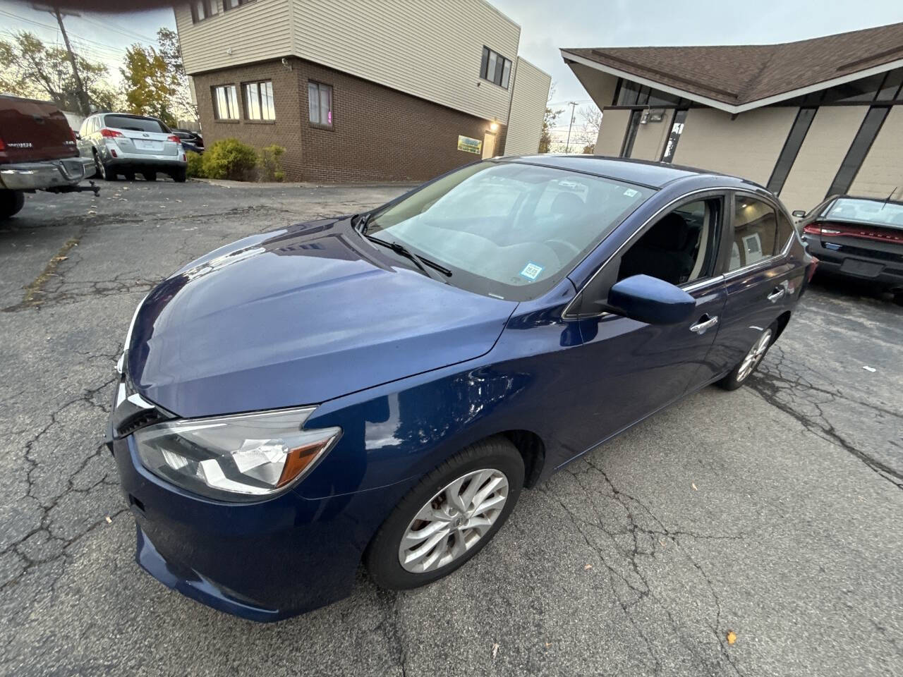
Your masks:
<svg viewBox="0 0 903 677"><path fill-rule="evenodd" d="M551 84L552 77L548 73L537 69L526 59L517 58L517 75L505 141L506 155L526 155L539 150L545 101Z"/></svg>

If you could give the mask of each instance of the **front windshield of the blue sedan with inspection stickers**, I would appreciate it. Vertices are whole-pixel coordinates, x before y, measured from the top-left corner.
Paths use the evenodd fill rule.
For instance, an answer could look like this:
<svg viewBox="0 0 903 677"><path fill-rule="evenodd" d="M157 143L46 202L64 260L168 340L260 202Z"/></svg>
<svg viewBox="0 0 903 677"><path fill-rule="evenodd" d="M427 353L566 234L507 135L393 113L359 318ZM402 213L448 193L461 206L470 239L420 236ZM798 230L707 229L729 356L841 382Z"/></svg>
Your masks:
<svg viewBox="0 0 903 677"><path fill-rule="evenodd" d="M448 282L526 301L548 291L654 191L519 162L479 162L377 211L367 235L452 270Z"/></svg>

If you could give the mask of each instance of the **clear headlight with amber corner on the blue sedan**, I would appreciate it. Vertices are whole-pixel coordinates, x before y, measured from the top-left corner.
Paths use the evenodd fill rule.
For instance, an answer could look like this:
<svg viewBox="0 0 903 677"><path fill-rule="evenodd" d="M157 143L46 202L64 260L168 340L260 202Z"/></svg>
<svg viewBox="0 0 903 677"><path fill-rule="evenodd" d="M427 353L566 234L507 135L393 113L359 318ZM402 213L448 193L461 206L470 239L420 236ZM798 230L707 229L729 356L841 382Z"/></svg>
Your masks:
<svg viewBox="0 0 903 677"><path fill-rule="evenodd" d="M303 430L315 407L167 421L135 431L144 468L223 501L273 496L309 473L341 428Z"/></svg>

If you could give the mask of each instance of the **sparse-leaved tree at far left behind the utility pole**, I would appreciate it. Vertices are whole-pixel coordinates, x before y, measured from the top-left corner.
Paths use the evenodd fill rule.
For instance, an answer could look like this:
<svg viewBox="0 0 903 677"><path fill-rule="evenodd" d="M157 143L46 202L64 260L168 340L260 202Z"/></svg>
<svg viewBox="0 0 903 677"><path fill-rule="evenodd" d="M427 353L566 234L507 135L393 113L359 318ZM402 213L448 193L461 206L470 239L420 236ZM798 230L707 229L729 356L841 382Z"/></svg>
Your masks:
<svg viewBox="0 0 903 677"><path fill-rule="evenodd" d="M116 90L108 84L109 72L102 63L76 55L82 84L90 107L116 107ZM49 99L62 110L81 108L78 86L72 74L69 53L45 45L31 32L18 32L13 40L0 40L0 90L17 97Z"/></svg>

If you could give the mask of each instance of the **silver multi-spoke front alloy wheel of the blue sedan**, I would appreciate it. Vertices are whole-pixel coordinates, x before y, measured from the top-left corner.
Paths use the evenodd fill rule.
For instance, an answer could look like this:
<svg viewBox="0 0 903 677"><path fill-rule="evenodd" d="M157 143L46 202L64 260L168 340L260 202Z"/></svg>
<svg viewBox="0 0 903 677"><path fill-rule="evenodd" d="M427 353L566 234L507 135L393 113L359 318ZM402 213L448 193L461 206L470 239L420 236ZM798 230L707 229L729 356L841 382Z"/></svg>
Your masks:
<svg viewBox="0 0 903 677"><path fill-rule="evenodd" d="M398 561L407 571L424 573L459 559L496 523L507 496L507 477L494 468L453 480L414 515L398 546Z"/></svg>

